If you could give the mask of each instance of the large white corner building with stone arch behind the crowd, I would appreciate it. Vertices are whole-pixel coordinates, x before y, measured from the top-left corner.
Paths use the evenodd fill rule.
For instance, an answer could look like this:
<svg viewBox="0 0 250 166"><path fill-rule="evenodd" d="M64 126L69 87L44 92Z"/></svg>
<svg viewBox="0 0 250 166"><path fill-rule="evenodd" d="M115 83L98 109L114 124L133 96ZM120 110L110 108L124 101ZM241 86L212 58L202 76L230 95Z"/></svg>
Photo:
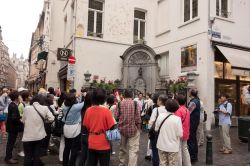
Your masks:
<svg viewBox="0 0 250 166"><path fill-rule="evenodd" d="M194 73L208 129L222 93L230 95L233 116L248 111L240 97L250 81L249 67L241 65L250 62L248 0L67 0L63 12L64 47L76 58L76 89L86 71L150 93ZM66 68L62 63L62 87Z"/></svg>

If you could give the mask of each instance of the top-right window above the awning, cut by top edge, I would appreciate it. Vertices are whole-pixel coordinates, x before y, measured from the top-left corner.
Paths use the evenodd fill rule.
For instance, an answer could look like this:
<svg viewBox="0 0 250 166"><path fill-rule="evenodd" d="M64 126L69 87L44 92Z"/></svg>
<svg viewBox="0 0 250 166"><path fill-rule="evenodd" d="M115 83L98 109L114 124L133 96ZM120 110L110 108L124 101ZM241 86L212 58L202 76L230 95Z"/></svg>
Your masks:
<svg viewBox="0 0 250 166"><path fill-rule="evenodd" d="M228 0L216 0L216 15L224 18L229 16Z"/></svg>

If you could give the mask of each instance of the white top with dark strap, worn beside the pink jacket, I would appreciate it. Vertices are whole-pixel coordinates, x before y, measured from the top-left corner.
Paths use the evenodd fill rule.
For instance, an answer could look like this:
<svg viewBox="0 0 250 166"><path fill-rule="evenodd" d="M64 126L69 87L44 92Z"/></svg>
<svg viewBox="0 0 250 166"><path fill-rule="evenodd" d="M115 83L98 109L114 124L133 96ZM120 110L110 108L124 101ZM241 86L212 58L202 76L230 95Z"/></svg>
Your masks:
<svg viewBox="0 0 250 166"><path fill-rule="evenodd" d="M169 112L159 114L155 130L158 131L162 121L169 115ZM157 148L164 152L178 152L180 148L180 139L182 137L181 118L171 115L163 123L160 135L157 141Z"/></svg>

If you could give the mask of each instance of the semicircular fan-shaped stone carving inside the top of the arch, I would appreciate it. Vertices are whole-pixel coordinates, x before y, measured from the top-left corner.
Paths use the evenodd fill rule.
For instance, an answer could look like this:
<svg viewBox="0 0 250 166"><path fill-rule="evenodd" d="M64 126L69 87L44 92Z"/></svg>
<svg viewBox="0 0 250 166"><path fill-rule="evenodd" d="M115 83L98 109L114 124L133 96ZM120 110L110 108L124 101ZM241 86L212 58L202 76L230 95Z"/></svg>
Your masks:
<svg viewBox="0 0 250 166"><path fill-rule="evenodd" d="M128 63L130 65L144 65L151 63L151 59L147 53L139 51L130 56Z"/></svg>

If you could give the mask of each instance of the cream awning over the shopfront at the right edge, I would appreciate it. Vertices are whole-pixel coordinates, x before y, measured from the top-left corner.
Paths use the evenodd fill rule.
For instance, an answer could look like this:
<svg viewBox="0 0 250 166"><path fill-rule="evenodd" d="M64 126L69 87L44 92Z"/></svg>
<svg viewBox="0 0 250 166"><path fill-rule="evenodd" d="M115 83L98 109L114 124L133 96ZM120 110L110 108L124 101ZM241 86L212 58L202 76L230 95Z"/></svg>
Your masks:
<svg viewBox="0 0 250 166"><path fill-rule="evenodd" d="M250 52L216 45L232 66L232 72L239 76L250 76Z"/></svg>

